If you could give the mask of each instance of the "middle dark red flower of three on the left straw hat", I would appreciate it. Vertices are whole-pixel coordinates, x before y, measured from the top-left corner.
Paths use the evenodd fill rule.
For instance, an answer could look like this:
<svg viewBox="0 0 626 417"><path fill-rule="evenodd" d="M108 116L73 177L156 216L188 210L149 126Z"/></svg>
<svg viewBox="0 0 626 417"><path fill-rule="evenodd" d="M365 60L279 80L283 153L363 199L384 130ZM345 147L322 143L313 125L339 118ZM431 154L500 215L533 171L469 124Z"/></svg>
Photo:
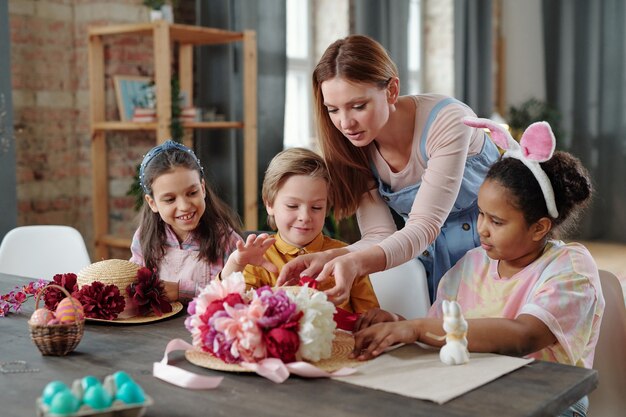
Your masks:
<svg viewBox="0 0 626 417"><path fill-rule="evenodd" d="M83 305L85 317L94 319L113 320L126 307L126 301L119 288L113 284L104 285L100 281L83 285L76 298Z"/></svg>

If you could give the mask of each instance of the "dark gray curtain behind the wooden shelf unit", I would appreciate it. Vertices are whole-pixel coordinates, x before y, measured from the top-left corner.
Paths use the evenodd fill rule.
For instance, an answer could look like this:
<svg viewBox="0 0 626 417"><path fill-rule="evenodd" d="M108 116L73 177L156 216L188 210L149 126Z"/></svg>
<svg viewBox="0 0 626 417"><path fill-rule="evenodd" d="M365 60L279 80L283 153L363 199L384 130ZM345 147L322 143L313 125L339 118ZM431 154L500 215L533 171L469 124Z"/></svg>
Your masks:
<svg viewBox="0 0 626 417"><path fill-rule="evenodd" d="M265 169L282 150L285 113L286 4L276 0L197 0L197 24L257 37L258 189ZM227 120L242 120L241 43L199 48L196 56L197 102ZM197 132L196 151L207 178L231 207L243 213L243 139L241 131ZM259 201L260 191L259 191ZM259 212L265 209L259 204ZM259 222L259 227L263 227Z"/></svg>

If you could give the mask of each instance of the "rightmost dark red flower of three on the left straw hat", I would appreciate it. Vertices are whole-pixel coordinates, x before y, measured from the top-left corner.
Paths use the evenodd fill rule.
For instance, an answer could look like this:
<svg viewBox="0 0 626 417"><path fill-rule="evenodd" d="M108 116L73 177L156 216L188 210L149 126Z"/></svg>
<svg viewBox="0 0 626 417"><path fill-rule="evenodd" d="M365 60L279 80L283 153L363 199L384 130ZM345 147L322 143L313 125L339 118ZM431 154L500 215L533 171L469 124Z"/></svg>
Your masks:
<svg viewBox="0 0 626 417"><path fill-rule="evenodd" d="M137 271L137 281L126 287L126 293L137 306L139 314L147 316L151 312L157 316L172 311L172 305L165 296L163 283L146 267Z"/></svg>

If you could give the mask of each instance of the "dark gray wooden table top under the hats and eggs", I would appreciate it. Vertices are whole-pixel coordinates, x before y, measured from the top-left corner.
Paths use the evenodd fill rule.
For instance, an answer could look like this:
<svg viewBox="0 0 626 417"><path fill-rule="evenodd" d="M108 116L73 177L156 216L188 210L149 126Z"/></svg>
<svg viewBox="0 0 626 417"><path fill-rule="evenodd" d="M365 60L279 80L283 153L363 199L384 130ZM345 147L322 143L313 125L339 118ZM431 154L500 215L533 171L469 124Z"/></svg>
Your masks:
<svg viewBox="0 0 626 417"><path fill-rule="evenodd" d="M0 274L0 293L28 280ZM94 375L103 379L124 370L154 399L147 416L555 416L598 385L595 370L536 361L443 405L371 390L330 379L291 377L275 384L255 374L221 373L197 367L182 352L170 363L203 375L225 376L215 390L192 391L152 376L173 338L190 340L180 313L142 325L87 323L77 349L66 357L42 356L30 340L28 318L34 301L21 313L0 317L0 362L24 360L36 373L0 373L0 415L35 414L35 399L52 380L71 384Z"/></svg>

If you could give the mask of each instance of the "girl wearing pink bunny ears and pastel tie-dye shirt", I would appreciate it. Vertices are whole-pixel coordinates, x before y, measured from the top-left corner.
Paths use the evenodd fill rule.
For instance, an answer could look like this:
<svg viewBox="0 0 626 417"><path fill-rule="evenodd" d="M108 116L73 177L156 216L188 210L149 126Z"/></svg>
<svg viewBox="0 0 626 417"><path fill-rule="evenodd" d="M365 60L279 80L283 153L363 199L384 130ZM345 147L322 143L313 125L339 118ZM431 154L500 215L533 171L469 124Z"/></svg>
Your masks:
<svg viewBox="0 0 626 417"><path fill-rule="evenodd" d="M586 170L571 154L554 152L547 123L531 125L519 144L489 120L464 123L488 128L505 150L478 192L481 245L444 275L427 318L366 314L357 323L355 355L377 356L399 342L441 346L427 333L441 333L442 303L456 300L470 352L591 368L604 311L598 269L584 246L555 239L591 197ZM585 415L586 399L576 407Z"/></svg>

